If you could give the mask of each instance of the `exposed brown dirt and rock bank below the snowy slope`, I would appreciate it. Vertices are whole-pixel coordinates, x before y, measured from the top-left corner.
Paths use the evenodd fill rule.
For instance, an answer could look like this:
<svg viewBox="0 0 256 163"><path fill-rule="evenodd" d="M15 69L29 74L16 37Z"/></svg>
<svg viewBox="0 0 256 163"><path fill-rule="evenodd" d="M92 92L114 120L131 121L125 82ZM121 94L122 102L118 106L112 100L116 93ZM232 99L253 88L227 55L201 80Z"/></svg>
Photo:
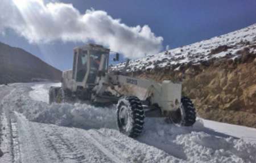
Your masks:
<svg viewBox="0 0 256 163"><path fill-rule="evenodd" d="M235 59L210 59L176 71L155 68L133 76L182 81L183 94L192 99L200 117L256 128L256 54L242 51Z"/></svg>

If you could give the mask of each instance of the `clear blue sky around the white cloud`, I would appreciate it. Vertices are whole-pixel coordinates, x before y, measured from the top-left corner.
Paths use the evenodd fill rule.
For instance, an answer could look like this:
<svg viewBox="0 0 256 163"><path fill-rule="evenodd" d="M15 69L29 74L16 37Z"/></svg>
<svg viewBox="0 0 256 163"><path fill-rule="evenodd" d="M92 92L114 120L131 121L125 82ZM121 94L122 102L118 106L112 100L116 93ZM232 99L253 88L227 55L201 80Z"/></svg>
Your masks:
<svg viewBox="0 0 256 163"><path fill-rule="evenodd" d="M72 3L81 14L91 7L95 10L104 10L112 18L121 19L121 22L129 27L147 24L155 36L163 37L163 46L170 45L171 49L256 23L254 0L60 2ZM0 42L23 48L60 70L72 67L73 48L84 44L79 41L30 44L13 29L5 30L5 35L0 35Z"/></svg>

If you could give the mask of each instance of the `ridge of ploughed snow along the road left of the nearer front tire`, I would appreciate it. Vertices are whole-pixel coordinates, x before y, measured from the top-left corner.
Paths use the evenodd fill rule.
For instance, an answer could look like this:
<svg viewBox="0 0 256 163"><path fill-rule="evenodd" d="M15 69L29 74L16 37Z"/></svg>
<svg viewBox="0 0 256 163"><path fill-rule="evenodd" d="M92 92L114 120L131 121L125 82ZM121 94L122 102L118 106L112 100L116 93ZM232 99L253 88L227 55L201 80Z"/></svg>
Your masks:
<svg viewBox="0 0 256 163"><path fill-rule="evenodd" d="M35 85L32 88L47 88L47 86ZM2 100L3 107L23 113L30 121L53 123L60 126L72 126L80 128L116 128L116 113L112 108L96 108L87 104L52 104L49 105L44 99L47 97L43 95L44 89L35 89L31 91L30 85L26 84L23 87L15 88L9 96ZM28 93L30 92L30 93ZM39 101L31 99L33 93L39 92L42 99ZM28 94L30 96L28 96ZM48 92L47 92L48 94Z"/></svg>

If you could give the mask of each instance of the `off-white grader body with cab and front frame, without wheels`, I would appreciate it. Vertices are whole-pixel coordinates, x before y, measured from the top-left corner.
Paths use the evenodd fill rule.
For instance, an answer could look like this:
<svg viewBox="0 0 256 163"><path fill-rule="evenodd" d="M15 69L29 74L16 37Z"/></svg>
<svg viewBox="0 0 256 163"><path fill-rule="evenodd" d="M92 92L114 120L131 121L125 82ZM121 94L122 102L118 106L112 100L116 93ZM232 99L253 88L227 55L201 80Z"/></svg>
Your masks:
<svg viewBox="0 0 256 163"><path fill-rule="evenodd" d="M152 105L158 105L161 113L167 115L170 111L179 109L181 102L181 84L164 80L157 83L152 80L137 79L130 76L109 72L109 49L100 45L85 45L74 49L73 69L64 71L62 87L72 92L77 89L90 89L91 100L102 96L114 85L131 84L146 89L146 97ZM98 101L106 101L106 99Z"/></svg>

